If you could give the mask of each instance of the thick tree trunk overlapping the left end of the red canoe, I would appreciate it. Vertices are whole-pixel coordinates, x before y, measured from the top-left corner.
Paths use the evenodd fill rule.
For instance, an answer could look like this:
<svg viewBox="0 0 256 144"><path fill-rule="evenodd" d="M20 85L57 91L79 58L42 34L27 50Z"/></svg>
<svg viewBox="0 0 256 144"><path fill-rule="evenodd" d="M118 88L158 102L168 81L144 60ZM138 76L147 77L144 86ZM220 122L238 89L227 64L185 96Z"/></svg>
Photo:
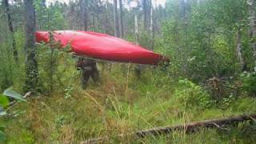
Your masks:
<svg viewBox="0 0 256 144"><path fill-rule="evenodd" d="M26 82L25 90L35 90L38 84L38 62L36 60L35 46L35 14L33 0L25 0L25 32L26 32Z"/></svg>

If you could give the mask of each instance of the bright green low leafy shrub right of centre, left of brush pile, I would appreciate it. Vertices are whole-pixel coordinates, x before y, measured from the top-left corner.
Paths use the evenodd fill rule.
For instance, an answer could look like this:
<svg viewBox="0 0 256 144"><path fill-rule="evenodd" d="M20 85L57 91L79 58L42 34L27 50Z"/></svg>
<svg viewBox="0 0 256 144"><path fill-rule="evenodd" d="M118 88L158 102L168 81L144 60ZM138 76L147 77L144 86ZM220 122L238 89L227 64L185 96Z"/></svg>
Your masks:
<svg viewBox="0 0 256 144"><path fill-rule="evenodd" d="M209 108L212 104L210 94L201 86L190 82L187 79L179 80L180 88L175 90L174 96L178 98L187 108L197 107L198 109Z"/></svg>

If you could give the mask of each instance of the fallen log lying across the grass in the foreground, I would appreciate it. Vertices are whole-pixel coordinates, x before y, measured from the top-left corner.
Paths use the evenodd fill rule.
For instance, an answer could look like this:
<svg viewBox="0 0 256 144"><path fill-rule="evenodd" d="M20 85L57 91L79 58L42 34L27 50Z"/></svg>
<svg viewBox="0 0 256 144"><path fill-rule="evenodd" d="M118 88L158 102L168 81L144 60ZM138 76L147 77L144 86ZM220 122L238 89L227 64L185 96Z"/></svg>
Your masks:
<svg viewBox="0 0 256 144"><path fill-rule="evenodd" d="M158 136L161 134L170 134L176 130L183 130L186 133L194 133L199 128L217 127L218 129L222 129L222 126L224 125L228 125L235 122L245 122L248 120L256 122L256 114L238 115L238 116L231 116L229 118L217 118L217 119L210 119L210 120L199 121L199 122L190 122L190 123L185 123L183 125L177 125L177 126L156 127L149 130L139 130L132 134L119 134L118 136L116 136L116 138L118 137L123 138L126 136L137 136L138 138L144 138L147 135ZM81 143L97 143L97 142L106 141L107 139L108 139L107 137L88 139Z"/></svg>

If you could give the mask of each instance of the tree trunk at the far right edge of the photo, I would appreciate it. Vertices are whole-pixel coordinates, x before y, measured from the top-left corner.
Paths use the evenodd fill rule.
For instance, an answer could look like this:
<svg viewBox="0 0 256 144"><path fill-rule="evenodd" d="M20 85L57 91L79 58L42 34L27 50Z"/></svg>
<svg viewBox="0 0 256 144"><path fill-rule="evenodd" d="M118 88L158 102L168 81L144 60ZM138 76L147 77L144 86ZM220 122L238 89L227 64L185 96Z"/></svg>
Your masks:
<svg viewBox="0 0 256 144"><path fill-rule="evenodd" d="M250 22L250 46L254 56L254 70L256 71L256 0L247 0Z"/></svg>

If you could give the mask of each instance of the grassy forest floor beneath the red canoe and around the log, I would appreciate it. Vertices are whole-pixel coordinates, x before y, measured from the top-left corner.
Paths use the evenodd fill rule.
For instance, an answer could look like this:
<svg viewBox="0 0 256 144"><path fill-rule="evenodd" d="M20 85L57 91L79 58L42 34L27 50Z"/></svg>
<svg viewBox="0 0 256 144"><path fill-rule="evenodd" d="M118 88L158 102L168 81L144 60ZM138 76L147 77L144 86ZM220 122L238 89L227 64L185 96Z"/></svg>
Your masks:
<svg viewBox="0 0 256 144"><path fill-rule="evenodd" d="M256 99L239 97L227 103L225 109L186 104L178 98L177 78L168 78L161 70L149 69L142 78L113 66L104 70L102 85L81 90L78 74L73 86L60 89L48 96L29 98L11 110L13 116L1 120L6 125L6 143L78 143L89 138L108 137L106 143L255 143L256 124L241 123L227 130L199 130L184 134L177 131L161 137L114 138L155 126L170 126L208 118L224 118L235 114L256 112ZM176 79L176 80L175 80ZM193 90L196 92L194 93ZM199 90L199 92L197 92ZM200 87L192 93L204 94ZM187 91L185 90L186 94ZM203 90L202 90L203 91ZM199 103L200 104L200 103Z"/></svg>

